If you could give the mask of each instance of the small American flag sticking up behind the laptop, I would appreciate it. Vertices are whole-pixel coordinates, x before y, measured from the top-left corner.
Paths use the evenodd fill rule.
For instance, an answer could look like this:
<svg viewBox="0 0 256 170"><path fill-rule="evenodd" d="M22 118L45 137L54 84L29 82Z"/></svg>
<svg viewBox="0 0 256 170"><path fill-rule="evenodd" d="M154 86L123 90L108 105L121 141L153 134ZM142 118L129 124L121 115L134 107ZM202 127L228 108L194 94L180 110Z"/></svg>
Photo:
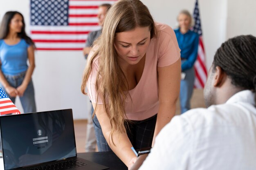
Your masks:
<svg viewBox="0 0 256 170"><path fill-rule="evenodd" d="M0 87L0 115L6 114L20 114L20 110L11 102L11 99L4 93L3 89Z"/></svg>

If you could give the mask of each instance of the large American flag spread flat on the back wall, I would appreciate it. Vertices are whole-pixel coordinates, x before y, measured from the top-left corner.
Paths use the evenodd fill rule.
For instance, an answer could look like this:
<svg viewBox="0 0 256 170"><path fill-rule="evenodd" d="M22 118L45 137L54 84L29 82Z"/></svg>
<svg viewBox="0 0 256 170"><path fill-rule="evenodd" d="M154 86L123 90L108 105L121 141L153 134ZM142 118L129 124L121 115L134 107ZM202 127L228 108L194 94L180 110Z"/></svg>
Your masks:
<svg viewBox="0 0 256 170"><path fill-rule="evenodd" d="M38 50L82 50L99 30L98 7L117 0L30 0L30 36Z"/></svg>

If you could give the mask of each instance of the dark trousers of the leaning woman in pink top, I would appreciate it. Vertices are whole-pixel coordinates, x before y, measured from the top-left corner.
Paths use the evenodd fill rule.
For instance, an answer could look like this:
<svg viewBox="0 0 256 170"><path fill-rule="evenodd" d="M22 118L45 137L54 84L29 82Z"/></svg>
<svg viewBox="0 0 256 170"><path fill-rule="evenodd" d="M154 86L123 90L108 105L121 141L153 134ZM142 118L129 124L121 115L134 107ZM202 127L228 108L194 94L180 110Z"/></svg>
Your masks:
<svg viewBox="0 0 256 170"><path fill-rule="evenodd" d="M145 120L130 121L125 125L126 133L135 150L138 150L140 148L151 147L156 121L157 114ZM96 133L99 152L112 151L108 146L105 137L103 136L101 126L96 115L93 118L93 124Z"/></svg>

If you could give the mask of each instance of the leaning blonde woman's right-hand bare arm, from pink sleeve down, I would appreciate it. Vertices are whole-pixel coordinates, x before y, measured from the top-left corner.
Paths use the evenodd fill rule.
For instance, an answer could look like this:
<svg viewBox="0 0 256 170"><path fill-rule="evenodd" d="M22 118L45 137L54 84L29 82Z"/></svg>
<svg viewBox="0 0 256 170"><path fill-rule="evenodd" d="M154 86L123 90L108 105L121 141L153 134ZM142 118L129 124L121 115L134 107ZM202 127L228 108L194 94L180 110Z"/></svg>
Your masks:
<svg viewBox="0 0 256 170"><path fill-rule="evenodd" d="M157 67L159 110L157 113L157 122L155 125L152 146L157 134L175 115L176 102L180 94L180 72L180 59L170 66Z"/></svg>

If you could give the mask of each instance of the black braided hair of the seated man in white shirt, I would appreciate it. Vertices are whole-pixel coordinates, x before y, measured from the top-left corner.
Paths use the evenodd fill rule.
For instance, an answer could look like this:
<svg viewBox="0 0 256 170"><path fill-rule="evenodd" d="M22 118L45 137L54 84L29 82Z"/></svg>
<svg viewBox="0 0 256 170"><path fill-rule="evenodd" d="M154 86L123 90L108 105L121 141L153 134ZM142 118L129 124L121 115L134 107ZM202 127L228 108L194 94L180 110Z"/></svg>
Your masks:
<svg viewBox="0 0 256 170"><path fill-rule="evenodd" d="M231 84L243 90L256 91L256 37L240 35L222 43L213 59L216 66L231 79ZM254 96L256 102L256 94Z"/></svg>

